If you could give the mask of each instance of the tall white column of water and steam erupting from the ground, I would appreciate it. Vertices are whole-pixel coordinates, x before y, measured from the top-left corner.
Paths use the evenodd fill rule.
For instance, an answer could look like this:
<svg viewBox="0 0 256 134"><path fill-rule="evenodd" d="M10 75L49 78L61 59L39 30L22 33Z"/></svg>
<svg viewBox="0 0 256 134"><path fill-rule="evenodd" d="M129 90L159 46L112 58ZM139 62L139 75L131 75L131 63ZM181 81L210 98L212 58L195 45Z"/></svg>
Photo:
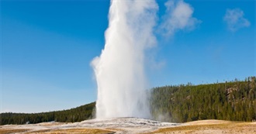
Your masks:
<svg viewBox="0 0 256 134"><path fill-rule="evenodd" d="M96 118L149 118L145 91L145 50L154 46L154 0L112 0L106 44L92 60L98 86Z"/></svg>

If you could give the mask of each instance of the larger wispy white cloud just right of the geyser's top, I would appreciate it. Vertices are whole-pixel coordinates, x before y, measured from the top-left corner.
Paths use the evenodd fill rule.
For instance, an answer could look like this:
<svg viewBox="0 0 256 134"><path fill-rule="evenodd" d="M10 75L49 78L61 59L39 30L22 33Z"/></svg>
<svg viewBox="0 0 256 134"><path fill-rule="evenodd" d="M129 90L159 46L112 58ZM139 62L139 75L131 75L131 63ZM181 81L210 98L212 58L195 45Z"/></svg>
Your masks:
<svg viewBox="0 0 256 134"><path fill-rule="evenodd" d="M193 18L194 9L191 5L181 1L171 1L165 3L166 14L161 23L161 32L164 36L172 36L180 29L195 29L200 22L199 19Z"/></svg>

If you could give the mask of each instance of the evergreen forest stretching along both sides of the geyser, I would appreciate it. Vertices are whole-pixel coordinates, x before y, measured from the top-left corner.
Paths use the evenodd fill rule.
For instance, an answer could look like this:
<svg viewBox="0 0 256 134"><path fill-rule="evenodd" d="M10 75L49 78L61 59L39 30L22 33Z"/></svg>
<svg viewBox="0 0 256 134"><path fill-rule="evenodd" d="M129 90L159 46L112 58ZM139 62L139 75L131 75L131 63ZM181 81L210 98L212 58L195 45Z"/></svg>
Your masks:
<svg viewBox="0 0 256 134"><path fill-rule="evenodd" d="M152 119L164 122L190 122L222 119L256 120L256 78L216 84L180 84L150 89ZM95 102L57 112L1 113L0 125L39 122L81 122L93 119Z"/></svg>

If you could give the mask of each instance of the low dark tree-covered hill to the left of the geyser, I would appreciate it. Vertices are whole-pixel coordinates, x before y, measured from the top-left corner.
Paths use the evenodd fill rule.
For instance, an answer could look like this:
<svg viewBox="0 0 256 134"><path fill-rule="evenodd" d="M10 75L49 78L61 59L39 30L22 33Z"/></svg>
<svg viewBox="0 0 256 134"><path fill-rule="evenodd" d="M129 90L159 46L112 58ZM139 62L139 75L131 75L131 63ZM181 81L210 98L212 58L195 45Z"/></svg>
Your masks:
<svg viewBox="0 0 256 134"><path fill-rule="evenodd" d="M86 119L92 119L92 113L95 108L95 102L88 105L81 105L77 108L71 108L56 112L41 113L2 113L0 115L0 125L5 124L35 124L40 122L81 122Z"/></svg>

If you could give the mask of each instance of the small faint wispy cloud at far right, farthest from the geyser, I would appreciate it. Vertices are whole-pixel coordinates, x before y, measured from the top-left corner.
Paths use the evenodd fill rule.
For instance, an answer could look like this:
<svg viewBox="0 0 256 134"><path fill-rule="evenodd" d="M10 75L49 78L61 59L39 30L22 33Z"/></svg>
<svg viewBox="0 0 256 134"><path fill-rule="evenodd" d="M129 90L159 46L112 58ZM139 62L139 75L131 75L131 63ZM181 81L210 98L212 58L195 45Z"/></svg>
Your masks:
<svg viewBox="0 0 256 134"><path fill-rule="evenodd" d="M227 28L232 32L251 25L251 23L244 18L244 12L241 9L227 9L223 20L227 22Z"/></svg>

